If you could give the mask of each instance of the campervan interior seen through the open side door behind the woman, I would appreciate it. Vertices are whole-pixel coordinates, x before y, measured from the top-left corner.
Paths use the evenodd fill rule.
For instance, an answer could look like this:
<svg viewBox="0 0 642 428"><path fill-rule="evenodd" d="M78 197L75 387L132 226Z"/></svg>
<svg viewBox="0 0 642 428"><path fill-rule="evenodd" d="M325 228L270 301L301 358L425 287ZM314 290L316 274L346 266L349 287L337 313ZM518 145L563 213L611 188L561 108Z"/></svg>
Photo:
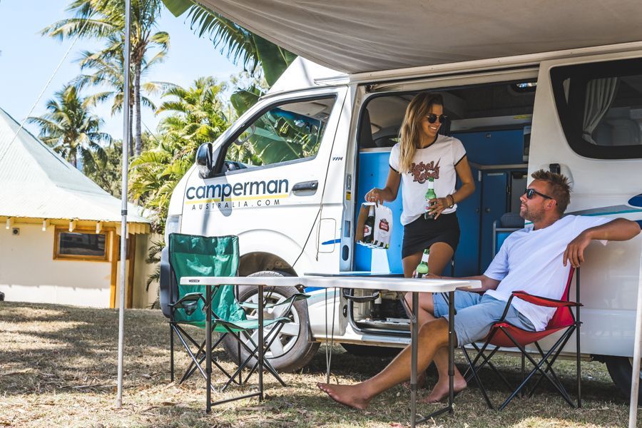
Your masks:
<svg viewBox="0 0 642 428"><path fill-rule="evenodd" d="M444 113L450 119L440 133L462 141L476 184L475 193L458 204L462 237L451 272L444 272L446 275L483 272L494 255L496 229L502 228L499 223L502 215L519 213L519 196L524 193L527 181L535 90L535 79L431 89L442 94ZM390 150L399 141L404 113L417 93L372 93L365 100L360 115L355 204L360 204L371 188L384 185ZM402 193L387 205L392 209L394 222L389 249L372 250L355 245L354 270L384 272L387 264L391 275L402 275L403 227L399 223ZM358 205L355 208L358 213ZM408 320L397 295L384 292L381 305L382 317L374 319L373 302L350 302L352 327L374 334L407 334Z"/></svg>

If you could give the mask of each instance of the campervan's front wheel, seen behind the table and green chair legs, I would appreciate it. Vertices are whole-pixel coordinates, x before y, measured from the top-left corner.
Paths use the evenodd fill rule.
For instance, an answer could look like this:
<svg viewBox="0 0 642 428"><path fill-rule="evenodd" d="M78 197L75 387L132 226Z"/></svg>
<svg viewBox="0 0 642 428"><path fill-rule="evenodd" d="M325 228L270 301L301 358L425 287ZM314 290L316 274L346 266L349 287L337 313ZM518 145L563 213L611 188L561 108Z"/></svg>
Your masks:
<svg viewBox="0 0 642 428"><path fill-rule="evenodd" d="M248 275L248 277L253 276L282 277L291 275L288 275L286 272L263 270ZM272 296L274 297L282 296L287 298L299 291L295 287L265 287L263 292L272 292ZM255 297L256 294L257 289L252 285L238 287L238 300L240 302L248 301L251 297ZM246 312L249 312L249 310L246 310ZM321 345L319 342L311 342L312 332L309 327L307 302L305 300L295 302L295 304L292 305L292 312L295 313L290 315L290 319L298 322L298 334L296 336L280 334L277 340L282 342L285 352L282 355L277 355L277 357L270 356L269 350L267 354L267 360L278 372L294 372L304 367L312 360L312 357L315 356ZM287 324L285 326L287 326ZM225 347L225 351L228 352L228 355L230 355L233 361L238 361L238 343L234 337L225 337L225 339L223 339L223 347ZM247 357L248 352L241 349L241 361L244 361ZM254 364L254 362L255 359L253 359L252 364Z"/></svg>

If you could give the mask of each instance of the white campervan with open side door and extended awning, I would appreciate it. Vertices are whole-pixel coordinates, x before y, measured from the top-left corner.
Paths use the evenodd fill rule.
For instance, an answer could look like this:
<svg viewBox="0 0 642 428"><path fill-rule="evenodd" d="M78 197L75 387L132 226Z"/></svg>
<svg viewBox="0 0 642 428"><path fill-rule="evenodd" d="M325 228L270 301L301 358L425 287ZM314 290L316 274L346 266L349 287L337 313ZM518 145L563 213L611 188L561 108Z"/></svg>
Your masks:
<svg viewBox="0 0 642 428"><path fill-rule="evenodd" d="M244 1L204 3L277 42L287 34L282 21L260 21L254 16L260 11L241 6L237 11L235 4ZM355 1L357 6L367 3ZM445 11L447 4L460 3L430 5ZM567 213L642 223L642 31L635 19L628 19L640 16L642 7L589 1L596 13L612 4L608 19L616 24L613 28L593 12L586 12L580 23L575 16L564 16L579 6L565 2L556 6L564 11L549 10L553 16L543 16L537 9L541 2L533 3L539 6L518 11L505 5L513 14L523 13L514 22L506 21L508 12L493 9L505 4L499 1L484 3L488 10L479 21L462 19L458 24L450 15L433 19L433 41L425 43L424 29L413 26L426 13L421 1L397 5L389 16L368 14L365 21L372 25L367 26L357 19L362 16L357 6L345 6L342 19L327 5L319 6L317 15L298 10L298 19L323 16L332 31L308 26L301 35L293 25L284 45L350 72L297 58L223 136L201 146L196 165L175 188L165 233L238 235L240 275L401 275L400 193L389 204L394 221L388 250L357 245L355 225L363 195L384 184L390 148L407 104L419 91L444 97L452 120L441 132L464 143L477 180L476 192L457 210L462 238L453 275L483 272L505 235L523 227L511 213L519 213L529 174L540 168L571 178ZM284 21L295 19L290 15L299 6L279 4L285 8L280 15ZM414 14L409 5L420 13ZM410 24L390 31L400 24L398 14ZM393 26L383 26L384 19ZM531 20L538 19L541 28L550 26L546 36L533 36L537 27ZM350 37L355 29L347 24L341 33L343 21L357 26L360 37ZM623 29L627 24L635 29ZM471 33L454 34L450 28L457 25ZM373 32L377 28L386 28L389 39ZM514 39L501 39L498 31ZM583 39L589 35L591 39ZM315 38L324 44L315 44ZM428 51L432 46L432 56L422 57L417 46ZM369 68L372 64L379 68ZM641 238L606 247L592 244L581 274L581 354L606 362L625 392L631 384L641 247ZM240 298L255 299L255 292L242 288ZM350 290L340 295L307 292L312 297L295 305L293 322L270 348L272 364L281 370L305 365L331 332L349 352L409 342L408 322L395 295L384 293L384 320L372 320L372 299L367 296ZM270 298L287 293L279 288ZM379 348L365 347L372 345Z"/></svg>

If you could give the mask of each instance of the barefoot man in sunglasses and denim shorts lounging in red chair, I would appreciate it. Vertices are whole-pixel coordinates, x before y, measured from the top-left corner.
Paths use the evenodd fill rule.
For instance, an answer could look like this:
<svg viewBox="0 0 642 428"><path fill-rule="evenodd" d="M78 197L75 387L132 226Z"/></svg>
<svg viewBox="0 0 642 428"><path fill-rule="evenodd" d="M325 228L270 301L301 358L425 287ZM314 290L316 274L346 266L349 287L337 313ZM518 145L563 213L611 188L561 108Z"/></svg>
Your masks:
<svg viewBox="0 0 642 428"><path fill-rule="evenodd" d="M564 175L539 170L521 195L519 215L533 223L506 238L484 275L467 279L480 280L484 295L457 291L454 334L459 346L477 342L504 312L511 292L524 290L534 295L559 299L564 292L570 266L584 263L584 249L591 240L628 240L640 233L638 223L623 218L567 215L570 201L569 181ZM432 275L432 277L437 277ZM420 302L418 372L424 372L434 360L439 379L426 401L435 402L448 394L448 306L441 295L427 295ZM555 309L531 305L514 298L506 320L524 330L541 331ZM330 398L356 409L367 408L370 400L410 377L410 348L406 347L379 374L354 385L319 383ZM454 389L466 387L462 374L455 369Z"/></svg>

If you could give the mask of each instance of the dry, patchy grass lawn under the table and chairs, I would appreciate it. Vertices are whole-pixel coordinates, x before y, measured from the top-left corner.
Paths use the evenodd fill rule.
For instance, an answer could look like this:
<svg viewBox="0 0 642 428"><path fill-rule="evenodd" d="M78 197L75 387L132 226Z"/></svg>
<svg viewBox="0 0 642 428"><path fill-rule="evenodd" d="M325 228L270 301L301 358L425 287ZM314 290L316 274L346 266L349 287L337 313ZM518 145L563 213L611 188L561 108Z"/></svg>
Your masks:
<svg viewBox="0 0 642 428"><path fill-rule="evenodd" d="M0 302L0 427L405 427L409 391L395 387L372 401L367 412L347 409L322 394L315 382L325 379L325 348L310 365L284 374L287 387L265 376L266 399L247 399L213 407L205 414L205 382L193 376L170 384L168 325L158 310L126 312L125 389L116 409L118 312L60 305ZM176 348L177 367L188 358ZM232 369L223 352L216 352ZM501 357L499 367L519 377L520 360ZM359 382L381 370L389 359L355 357L335 347L332 379ZM561 363L561 364L559 364ZM457 364L464 367L462 355ZM455 413L426 427L623 427L628 401L599 362L582 363L584 408L571 409L551 388L531 399L515 399L503 412L486 408L472 385L455 399ZM429 384L434 372L429 372ZM558 374L574 389L574 362L558 362ZM491 399L506 391L491 372L482 376ZM223 379L214 372L215 381ZM238 394L232 387L220 399ZM422 391L421 394L425 394ZM419 412L435 405L420 404ZM638 417L642 419L642 414Z"/></svg>

